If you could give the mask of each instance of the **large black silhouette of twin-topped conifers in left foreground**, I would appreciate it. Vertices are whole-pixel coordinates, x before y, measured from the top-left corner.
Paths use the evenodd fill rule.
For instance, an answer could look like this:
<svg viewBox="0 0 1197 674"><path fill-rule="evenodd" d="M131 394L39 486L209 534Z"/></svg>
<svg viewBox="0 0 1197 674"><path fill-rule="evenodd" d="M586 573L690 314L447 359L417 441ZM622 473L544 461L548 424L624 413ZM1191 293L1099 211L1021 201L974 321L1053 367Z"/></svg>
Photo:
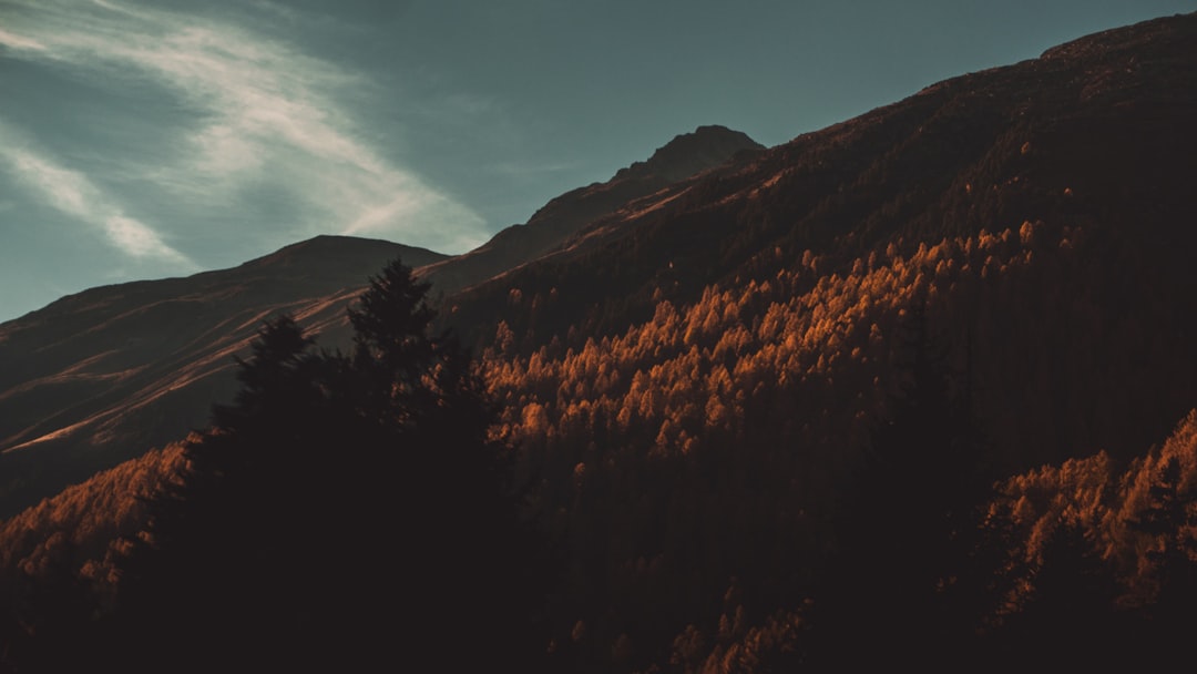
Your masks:
<svg viewBox="0 0 1197 674"><path fill-rule="evenodd" d="M348 354L265 324L122 563L113 664L535 669L543 548L426 290L399 260L372 277Z"/></svg>

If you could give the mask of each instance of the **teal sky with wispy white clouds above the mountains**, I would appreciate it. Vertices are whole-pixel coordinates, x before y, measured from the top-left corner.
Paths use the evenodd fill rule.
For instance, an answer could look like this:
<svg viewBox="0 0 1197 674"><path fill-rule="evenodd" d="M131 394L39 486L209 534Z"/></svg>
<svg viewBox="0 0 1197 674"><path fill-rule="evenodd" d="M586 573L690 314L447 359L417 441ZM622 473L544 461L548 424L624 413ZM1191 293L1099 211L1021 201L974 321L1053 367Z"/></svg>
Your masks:
<svg viewBox="0 0 1197 674"><path fill-rule="evenodd" d="M0 0L0 322L321 233L466 253L678 134L774 146L1197 0Z"/></svg>

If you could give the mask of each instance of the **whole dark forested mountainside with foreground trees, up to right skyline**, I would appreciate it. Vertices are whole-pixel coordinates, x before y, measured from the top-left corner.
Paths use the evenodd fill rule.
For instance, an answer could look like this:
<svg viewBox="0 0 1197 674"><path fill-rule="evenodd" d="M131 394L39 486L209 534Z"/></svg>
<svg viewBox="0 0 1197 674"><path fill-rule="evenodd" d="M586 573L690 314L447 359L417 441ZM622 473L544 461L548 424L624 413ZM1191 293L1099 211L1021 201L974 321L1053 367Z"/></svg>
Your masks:
<svg viewBox="0 0 1197 674"><path fill-rule="evenodd" d="M263 308L205 425L0 521L0 670L1189 663L1195 83L1197 16L1107 31Z"/></svg>

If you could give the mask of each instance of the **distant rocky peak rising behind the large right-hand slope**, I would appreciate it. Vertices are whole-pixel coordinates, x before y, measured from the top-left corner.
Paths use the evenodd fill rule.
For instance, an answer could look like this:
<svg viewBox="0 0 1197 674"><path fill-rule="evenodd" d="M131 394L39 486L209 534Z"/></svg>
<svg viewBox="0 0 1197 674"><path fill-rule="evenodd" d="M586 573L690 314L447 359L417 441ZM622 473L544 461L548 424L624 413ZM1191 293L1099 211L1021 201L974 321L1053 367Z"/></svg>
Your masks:
<svg viewBox="0 0 1197 674"><path fill-rule="evenodd" d="M762 145L741 132L698 127L658 147L648 160L620 169L607 182L553 199L525 224L504 229L481 247L420 269L420 277L433 285L436 295L452 295L552 251L596 218L760 150Z"/></svg>

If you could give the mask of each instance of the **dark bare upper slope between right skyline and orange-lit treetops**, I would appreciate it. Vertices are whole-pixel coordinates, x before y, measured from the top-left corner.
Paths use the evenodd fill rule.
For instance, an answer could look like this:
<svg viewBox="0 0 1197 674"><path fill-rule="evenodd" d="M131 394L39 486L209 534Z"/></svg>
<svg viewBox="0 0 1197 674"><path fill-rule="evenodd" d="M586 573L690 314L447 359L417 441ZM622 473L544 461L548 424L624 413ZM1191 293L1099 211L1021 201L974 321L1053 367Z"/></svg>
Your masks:
<svg viewBox="0 0 1197 674"><path fill-rule="evenodd" d="M451 320L478 344L504 320L521 348L570 328L578 347L651 317L660 298L759 283L807 250L822 273L844 272L898 238L934 244L1027 220L1120 238L1178 287L1197 237L1185 226L1197 206L1195 25L1186 14L1086 37L710 171L454 298Z"/></svg>

